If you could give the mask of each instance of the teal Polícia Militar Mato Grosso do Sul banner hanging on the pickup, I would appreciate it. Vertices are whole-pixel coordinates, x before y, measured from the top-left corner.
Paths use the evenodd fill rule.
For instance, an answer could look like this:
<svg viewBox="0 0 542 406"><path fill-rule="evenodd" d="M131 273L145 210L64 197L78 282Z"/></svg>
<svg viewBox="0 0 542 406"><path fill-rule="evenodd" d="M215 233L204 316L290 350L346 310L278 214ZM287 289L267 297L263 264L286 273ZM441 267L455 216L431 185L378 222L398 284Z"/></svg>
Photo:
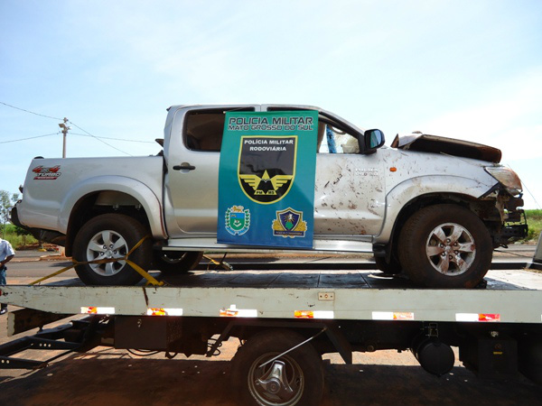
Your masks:
<svg viewBox="0 0 542 406"><path fill-rule="evenodd" d="M226 113L218 242L313 247L318 112Z"/></svg>

